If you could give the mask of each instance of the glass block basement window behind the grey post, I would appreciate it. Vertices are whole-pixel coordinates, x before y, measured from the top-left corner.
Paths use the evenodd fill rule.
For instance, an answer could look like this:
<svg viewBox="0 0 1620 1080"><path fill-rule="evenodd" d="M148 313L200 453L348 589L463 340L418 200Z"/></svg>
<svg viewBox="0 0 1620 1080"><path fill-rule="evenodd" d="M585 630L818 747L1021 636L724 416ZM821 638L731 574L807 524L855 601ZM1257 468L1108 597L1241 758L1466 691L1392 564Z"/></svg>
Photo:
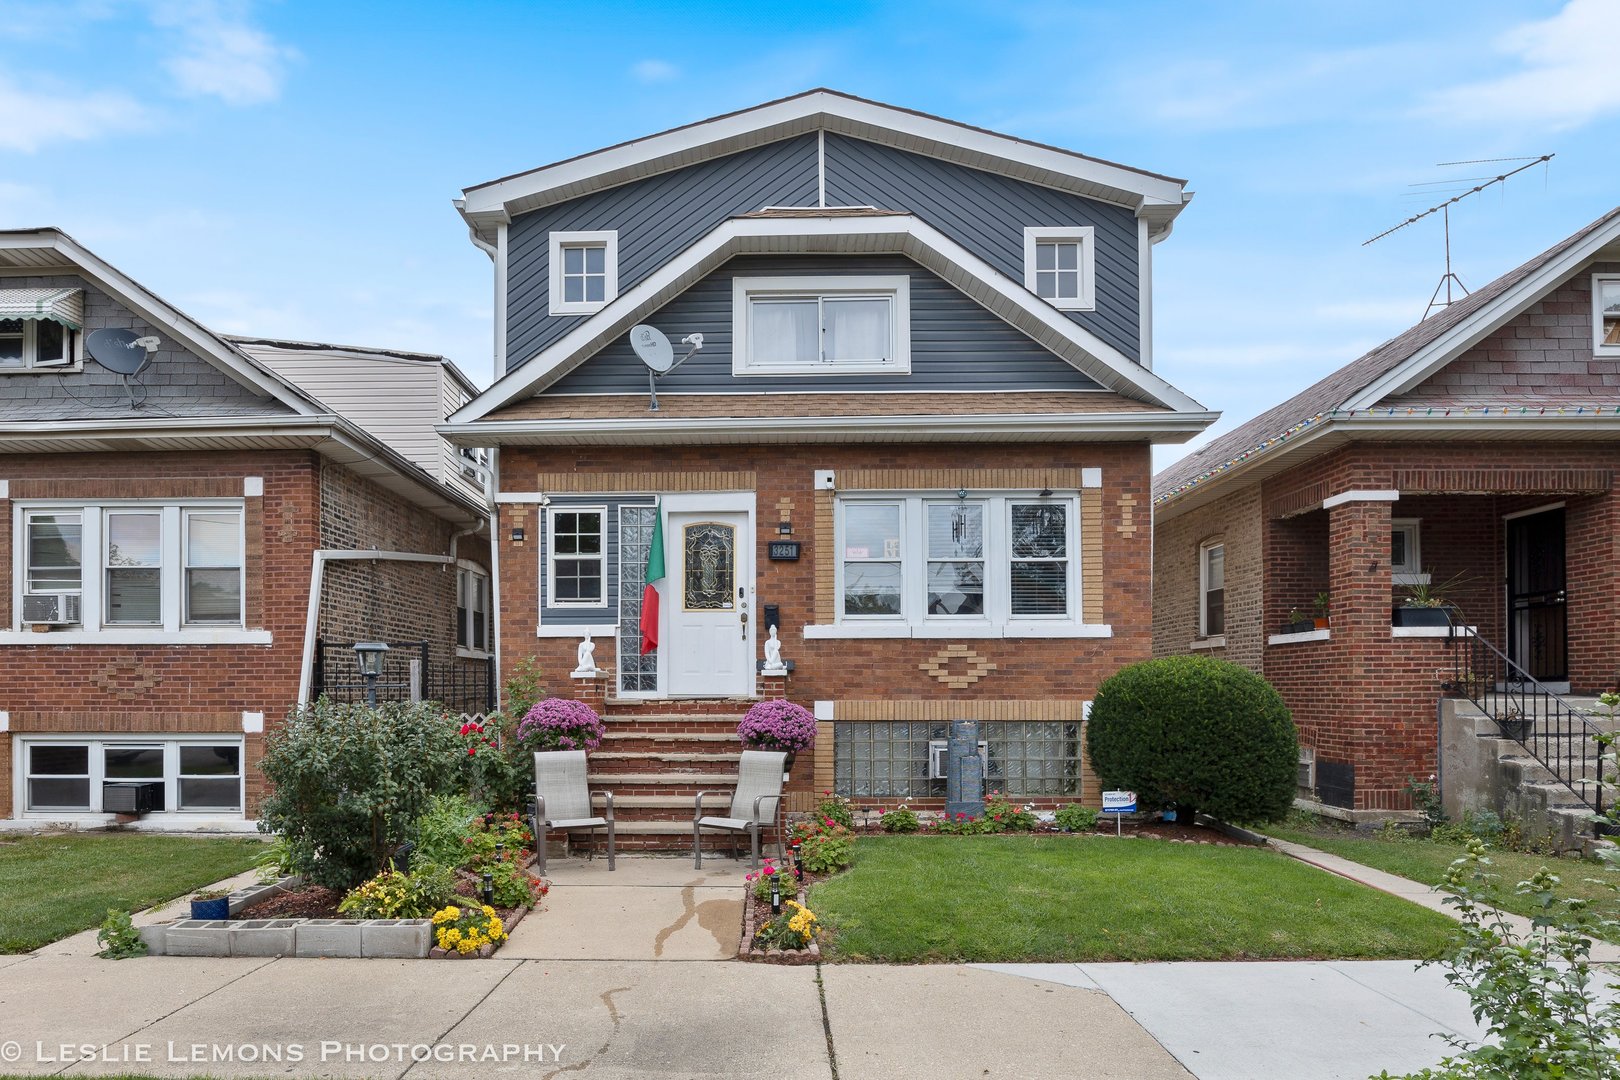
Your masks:
<svg viewBox="0 0 1620 1080"><path fill-rule="evenodd" d="M928 779L928 743L943 722L855 722L833 725L833 784L850 798L944 798L944 780ZM1013 797L1081 793L1081 725L1064 721L983 722L985 790Z"/></svg>

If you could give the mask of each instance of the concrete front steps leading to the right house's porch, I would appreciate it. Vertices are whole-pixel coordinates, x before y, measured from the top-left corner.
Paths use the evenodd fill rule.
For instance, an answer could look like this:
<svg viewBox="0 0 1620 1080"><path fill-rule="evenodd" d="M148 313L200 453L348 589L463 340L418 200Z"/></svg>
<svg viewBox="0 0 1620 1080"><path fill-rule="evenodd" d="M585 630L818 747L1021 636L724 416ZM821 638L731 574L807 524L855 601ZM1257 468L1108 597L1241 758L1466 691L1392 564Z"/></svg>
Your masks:
<svg viewBox="0 0 1620 1080"><path fill-rule="evenodd" d="M1599 730L1609 730L1605 711L1596 698L1565 696L1565 701L1588 714ZM1533 721L1542 721L1544 709L1528 711ZM1558 721L1555 721L1558 722ZM1568 724L1568 721L1562 721ZM1570 742L1568 753L1558 753L1560 742ZM1581 767L1581 753L1575 746L1580 735L1558 738L1526 738L1558 766L1571 780L1592 779L1591 761ZM1596 751L1594 751L1596 753ZM1445 810L1461 818L1469 810L1495 810L1516 816L1531 836L1547 836L1558 850L1591 852L1592 810L1563 784L1524 745L1502 735L1502 727L1474 703L1447 699L1440 717L1440 767ZM1584 793L1588 789L1576 784ZM1614 792L1604 793L1604 806L1614 800Z"/></svg>

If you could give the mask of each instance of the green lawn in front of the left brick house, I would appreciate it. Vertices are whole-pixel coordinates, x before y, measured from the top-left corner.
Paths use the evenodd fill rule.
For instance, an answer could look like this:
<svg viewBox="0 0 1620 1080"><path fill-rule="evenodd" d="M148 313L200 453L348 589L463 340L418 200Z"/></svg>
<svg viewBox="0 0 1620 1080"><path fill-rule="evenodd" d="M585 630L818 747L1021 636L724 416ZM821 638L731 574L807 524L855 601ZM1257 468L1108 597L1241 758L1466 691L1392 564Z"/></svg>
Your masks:
<svg viewBox="0 0 1620 1080"><path fill-rule="evenodd" d="M91 926L240 874L264 850L246 837L196 840L83 832L0 840L0 954L29 952Z"/></svg>

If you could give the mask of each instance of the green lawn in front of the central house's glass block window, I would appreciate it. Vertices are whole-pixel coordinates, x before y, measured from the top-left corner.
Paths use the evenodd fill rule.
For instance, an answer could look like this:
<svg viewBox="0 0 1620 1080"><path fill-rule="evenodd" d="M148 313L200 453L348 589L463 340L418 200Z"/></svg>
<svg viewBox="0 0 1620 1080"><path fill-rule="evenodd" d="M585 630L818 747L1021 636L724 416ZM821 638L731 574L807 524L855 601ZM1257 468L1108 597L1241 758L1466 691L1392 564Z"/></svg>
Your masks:
<svg viewBox="0 0 1620 1080"><path fill-rule="evenodd" d="M1455 923L1286 855L1108 837L862 837L810 908L838 960L1439 955Z"/></svg>

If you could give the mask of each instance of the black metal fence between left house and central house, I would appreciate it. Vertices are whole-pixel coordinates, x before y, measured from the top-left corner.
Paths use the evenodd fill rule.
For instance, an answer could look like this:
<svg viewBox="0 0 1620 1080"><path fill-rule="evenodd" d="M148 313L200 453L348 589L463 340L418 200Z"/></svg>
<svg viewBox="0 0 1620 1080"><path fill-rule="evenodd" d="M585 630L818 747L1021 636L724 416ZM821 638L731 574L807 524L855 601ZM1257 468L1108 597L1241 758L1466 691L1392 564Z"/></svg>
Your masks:
<svg viewBox="0 0 1620 1080"><path fill-rule="evenodd" d="M452 657L437 661L426 641L389 641L377 677L377 701L437 701L450 712L488 714L496 708L496 664L492 657ZM316 641L309 672L313 698L348 704L366 701L366 680L360 675L355 648L342 641Z"/></svg>

